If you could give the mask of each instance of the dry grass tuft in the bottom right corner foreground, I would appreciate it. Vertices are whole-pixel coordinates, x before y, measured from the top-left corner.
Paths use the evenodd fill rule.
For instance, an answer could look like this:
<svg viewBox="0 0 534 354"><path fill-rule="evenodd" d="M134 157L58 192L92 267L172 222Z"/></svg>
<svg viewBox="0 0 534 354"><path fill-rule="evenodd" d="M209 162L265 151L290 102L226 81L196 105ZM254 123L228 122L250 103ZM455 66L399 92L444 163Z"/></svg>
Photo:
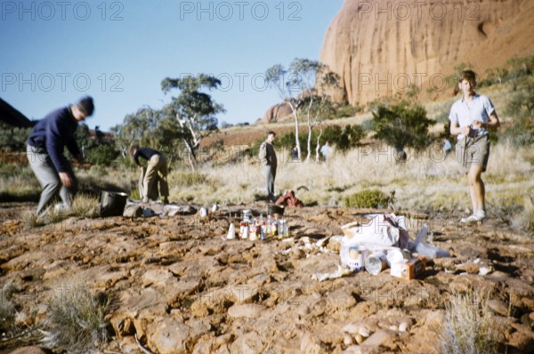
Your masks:
<svg viewBox="0 0 534 354"><path fill-rule="evenodd" d="M497 353L498 328L479 294L457 294L445 310L440 333L443 354Z"/></svg>

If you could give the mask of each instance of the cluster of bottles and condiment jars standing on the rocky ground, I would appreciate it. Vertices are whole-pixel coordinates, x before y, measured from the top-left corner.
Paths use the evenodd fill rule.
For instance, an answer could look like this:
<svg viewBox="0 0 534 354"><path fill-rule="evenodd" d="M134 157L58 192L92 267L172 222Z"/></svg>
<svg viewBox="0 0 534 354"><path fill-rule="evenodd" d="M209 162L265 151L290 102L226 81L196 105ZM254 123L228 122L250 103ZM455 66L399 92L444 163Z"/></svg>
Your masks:
<svg viewBox="0 0 534 354"><path fill-rule="evenodd" d="M248 238L251 241L258 238L264 240L268 237L279 239L289 237L289 223L279 214L267 215L267 218L263 218L262 214L254 218L250 214L243 213L243 220L239 222L239 237Z"/></svg>

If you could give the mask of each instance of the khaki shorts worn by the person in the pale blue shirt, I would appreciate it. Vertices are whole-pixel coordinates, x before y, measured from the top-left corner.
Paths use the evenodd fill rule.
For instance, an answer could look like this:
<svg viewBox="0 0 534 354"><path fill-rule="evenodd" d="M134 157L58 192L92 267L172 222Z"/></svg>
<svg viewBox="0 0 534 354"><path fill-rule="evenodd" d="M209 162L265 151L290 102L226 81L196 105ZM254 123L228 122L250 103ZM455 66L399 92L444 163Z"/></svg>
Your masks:
<svg viewBox="0 0 534 354"><path fill-rule="evenodd" d="M457 161L460 173L469 173L472 165L482 167L486 171L490 157L490 136L488 134L476 138L460 139L456 145Z"/></svg>

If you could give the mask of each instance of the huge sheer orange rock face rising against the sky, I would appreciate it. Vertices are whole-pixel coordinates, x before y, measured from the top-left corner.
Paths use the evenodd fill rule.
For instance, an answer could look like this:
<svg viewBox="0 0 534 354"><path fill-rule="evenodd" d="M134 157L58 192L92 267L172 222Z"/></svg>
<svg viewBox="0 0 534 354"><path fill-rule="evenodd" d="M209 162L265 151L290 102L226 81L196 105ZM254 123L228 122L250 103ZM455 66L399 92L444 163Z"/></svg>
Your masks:
<svg viewBox="0 0 534 354"><path fill-rule="evenodd" d="M450 93L443 79L459 63L483 74L534 55L533 18L532 0L345 0L320 61L341 76L351 104L405 92L410 84L423 93L429 87Z"/></svg>

